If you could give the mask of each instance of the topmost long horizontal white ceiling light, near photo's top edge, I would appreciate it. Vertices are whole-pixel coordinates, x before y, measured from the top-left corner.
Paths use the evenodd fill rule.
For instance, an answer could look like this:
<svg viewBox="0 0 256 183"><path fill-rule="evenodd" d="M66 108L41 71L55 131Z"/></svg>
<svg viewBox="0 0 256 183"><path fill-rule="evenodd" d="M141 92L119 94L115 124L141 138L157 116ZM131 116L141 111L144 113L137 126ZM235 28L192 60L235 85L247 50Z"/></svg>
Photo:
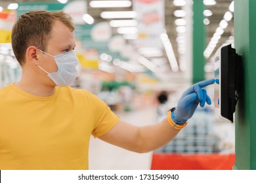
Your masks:
<svg viewBox="0 0 256 183"><path fill-rule="evenodd" d="M91 1L90 6L93 8L131 7L131 1Z"/></svg>

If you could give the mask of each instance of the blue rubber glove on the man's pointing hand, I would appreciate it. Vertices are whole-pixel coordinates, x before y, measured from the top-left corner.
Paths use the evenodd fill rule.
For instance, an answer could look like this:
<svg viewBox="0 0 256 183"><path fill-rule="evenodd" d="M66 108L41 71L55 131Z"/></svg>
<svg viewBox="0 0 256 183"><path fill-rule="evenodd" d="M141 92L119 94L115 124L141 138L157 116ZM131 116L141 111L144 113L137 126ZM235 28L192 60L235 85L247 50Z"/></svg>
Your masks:
<svg viewBox="0 0 256 183"><path fill-rule="evenodd" d="M204 107L205 102L211 105L210 97L207 95L206 90L202 88L213 83L215 83L215 79L204 80L190 86L190 88L182 94L177 108L171 113L173 121L177 124L184 124L193 116L198 104L200 104L201 107Z"/></svg>

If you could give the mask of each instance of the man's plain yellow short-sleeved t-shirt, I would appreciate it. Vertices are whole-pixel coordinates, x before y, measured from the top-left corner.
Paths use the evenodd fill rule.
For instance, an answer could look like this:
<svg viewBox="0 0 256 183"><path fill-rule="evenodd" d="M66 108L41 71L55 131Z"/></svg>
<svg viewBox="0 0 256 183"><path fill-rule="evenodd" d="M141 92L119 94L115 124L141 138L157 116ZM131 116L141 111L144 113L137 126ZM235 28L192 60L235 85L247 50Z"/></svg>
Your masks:
<svg viewBox="0 0 256 183"><path fill-rule="evenodd" d="M85 90L56 87L38 97L11 84L0 90L0 169L88 169L91 134L118 121Z"/></svg>

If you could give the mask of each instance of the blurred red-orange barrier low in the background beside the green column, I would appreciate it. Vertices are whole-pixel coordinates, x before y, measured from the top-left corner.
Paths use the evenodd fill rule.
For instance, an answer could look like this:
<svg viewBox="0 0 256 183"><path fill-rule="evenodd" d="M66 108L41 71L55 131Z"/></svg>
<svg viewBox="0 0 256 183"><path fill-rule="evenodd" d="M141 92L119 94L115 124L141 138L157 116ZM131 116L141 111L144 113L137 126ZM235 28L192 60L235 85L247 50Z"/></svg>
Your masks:
<svg viewBox="0 0 256 183"><path fill-rule="evenodd" d="M234 154L153 154L152 170L232 170Z"/></svg>

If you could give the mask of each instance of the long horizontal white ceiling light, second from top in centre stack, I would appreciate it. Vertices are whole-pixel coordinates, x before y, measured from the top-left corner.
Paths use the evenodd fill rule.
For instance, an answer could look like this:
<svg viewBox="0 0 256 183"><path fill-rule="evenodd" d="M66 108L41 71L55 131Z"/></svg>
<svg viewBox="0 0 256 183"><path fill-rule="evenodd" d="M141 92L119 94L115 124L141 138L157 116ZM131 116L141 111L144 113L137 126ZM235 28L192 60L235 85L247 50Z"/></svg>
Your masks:
<svg viewBox="0 0 256 183"><path fill-rule="evenodd" d="M136 18L137 12L135 11L109 11L101 12L101 18Z"/></svg>

